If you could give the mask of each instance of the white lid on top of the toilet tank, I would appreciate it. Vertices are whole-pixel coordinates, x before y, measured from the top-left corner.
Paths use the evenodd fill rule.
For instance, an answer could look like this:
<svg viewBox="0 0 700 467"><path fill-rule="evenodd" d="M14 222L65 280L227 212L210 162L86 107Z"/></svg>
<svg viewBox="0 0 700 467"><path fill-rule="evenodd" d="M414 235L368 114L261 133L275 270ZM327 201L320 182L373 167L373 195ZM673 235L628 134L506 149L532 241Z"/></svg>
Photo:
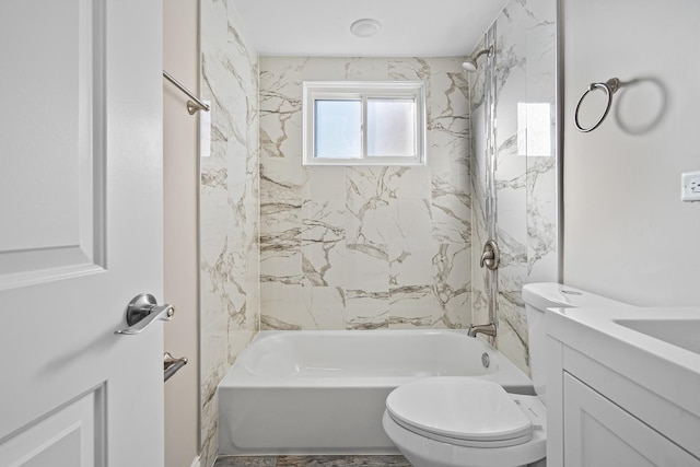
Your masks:
<svg viewBox="0 0 700 467"><path fill-rule="evenodd" d="M596 295L584 290L556 282L523 285L523 300L537 310L581 307L629 307L627 303Z"/></svg>

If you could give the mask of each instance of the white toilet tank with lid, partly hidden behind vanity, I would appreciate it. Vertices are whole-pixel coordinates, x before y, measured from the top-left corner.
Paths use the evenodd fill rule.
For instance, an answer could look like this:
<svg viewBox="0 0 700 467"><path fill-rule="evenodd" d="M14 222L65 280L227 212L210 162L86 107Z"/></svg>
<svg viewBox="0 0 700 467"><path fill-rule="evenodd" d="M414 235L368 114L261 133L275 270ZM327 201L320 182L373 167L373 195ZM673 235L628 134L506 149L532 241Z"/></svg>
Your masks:
<svg viewBox="0 0 700 467"><path fill-rule="evenodd" d="M529 369L533 386L545 404L545 310L582 307L617 308L632 306L555 282L528 283L523 285L523 301L525 302L525 313L527 316Z"/></svg>

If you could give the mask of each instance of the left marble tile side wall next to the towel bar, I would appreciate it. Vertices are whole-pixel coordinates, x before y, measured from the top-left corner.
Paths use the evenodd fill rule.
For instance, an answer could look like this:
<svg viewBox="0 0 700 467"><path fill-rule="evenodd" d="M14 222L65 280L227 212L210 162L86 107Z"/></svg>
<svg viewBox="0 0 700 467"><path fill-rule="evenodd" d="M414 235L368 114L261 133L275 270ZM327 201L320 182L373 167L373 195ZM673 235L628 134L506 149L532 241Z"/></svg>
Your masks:
<svg viewBox="0 0 700 467"><path fill-rule="evenodd" d="M217 385L259 329L258 59L231 0L202 0L202 95L211 152L201 157L201 465L217 454Z"/></svg>

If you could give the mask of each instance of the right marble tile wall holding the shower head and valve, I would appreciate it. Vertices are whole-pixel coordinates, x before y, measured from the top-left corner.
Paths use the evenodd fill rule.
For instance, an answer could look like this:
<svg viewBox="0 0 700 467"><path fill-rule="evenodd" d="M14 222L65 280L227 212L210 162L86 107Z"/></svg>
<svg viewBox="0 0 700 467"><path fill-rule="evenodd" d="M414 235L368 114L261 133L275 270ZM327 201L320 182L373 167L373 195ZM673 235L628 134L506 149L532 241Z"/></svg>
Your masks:
<svg viewBox="0 0 700 467"><path fill-rule="evenodd" d="M521 289L524 283L558 281L557 148L556 148L556 2L513 0L487 33L495 43L491 70L480 68L474 78L471 112L475 121L475 245L485 241L489 221L501 249L498 273L497 346L523 370L527 362L527 320ZM481 44L482 46L483 44ZM492 72L492 80L487 75ZM489 89L492 86L492 89ZM495 141L489 153L486 95L494 94L498 119ZM549 149L524 149L518 138L534 131L532 122L518 120L518 104L547 104ZM546 145L546 144L545 144ZM493 215L482 178L494 171ZM485 188L481 188L485 186ZM483 222L483 225L481 224ZM475 246L475 252L477 247ZM476 255L476 253L475 253ZM479 275L472 270L475 283ZM482 287L475 288L478 303ZM475 302L475 308L477 308ZM481 319L481 307L479 319ZM476 313L475 313L476 314ZM476 319L476 317L475 317Z"/></svg>

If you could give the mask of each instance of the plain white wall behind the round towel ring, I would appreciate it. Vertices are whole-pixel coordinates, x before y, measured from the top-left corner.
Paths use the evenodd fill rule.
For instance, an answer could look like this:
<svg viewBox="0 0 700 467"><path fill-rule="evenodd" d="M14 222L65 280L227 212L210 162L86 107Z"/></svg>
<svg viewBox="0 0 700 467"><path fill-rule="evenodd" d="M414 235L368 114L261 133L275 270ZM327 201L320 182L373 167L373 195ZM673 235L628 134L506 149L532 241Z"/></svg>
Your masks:
<svg viewBox="0 0 700 467"><path fill-rule="evenodd" d="M561 5L564 281L633 304L697 305L700 202L680 201L680 173L700 171L700 2ZM579 132L579 97L611 77L640 81Z"/></svg>

